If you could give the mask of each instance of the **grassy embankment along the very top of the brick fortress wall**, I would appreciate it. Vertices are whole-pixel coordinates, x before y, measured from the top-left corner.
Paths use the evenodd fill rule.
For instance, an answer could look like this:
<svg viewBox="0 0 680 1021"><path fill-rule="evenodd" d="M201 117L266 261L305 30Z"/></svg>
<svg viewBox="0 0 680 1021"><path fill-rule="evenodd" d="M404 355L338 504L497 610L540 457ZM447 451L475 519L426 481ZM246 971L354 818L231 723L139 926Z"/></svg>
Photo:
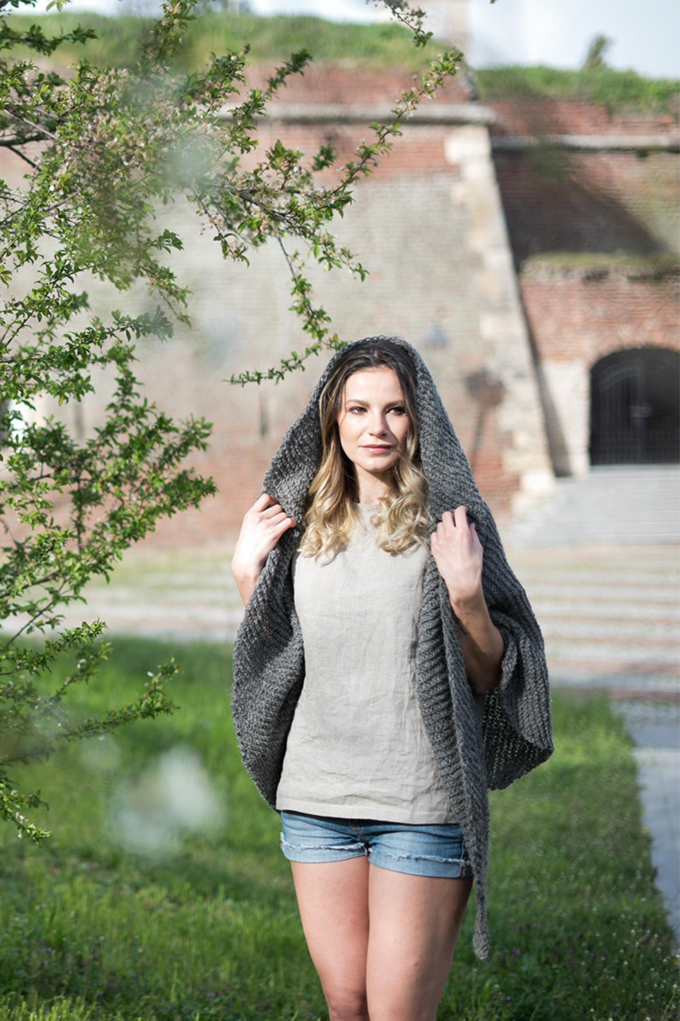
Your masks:
<svg viewBox="0 0 680 1021"><path fill-rule="evenodd" d="M15 28L38 21L47 35L72 30L75 25L92 28L98 39L85 47L63 47L55 59L63 65L81 55L93 63L124 66L132 63L151 21L146 18L116 18L83 12L35 15L12 14ZM315 62L347 66L399 67L417 71L440 49L432 41L416 49L410 33L391 22L378 25L334 25L316 17L256 17L252 14L207 12L197 16L178 54L178 64L188 69L201 66L211 52L241 50L250 46L249 60L271 64L300 49L309 50ZM17 51L18 55L18 51ZM502 67L479 70L479 98L482 101L513 99L583 99L600 103L615 111L636 110L678 112L680 83L669 79L646 79L635 71L609 67L596 70L558 70L553 67Z"/></svg>

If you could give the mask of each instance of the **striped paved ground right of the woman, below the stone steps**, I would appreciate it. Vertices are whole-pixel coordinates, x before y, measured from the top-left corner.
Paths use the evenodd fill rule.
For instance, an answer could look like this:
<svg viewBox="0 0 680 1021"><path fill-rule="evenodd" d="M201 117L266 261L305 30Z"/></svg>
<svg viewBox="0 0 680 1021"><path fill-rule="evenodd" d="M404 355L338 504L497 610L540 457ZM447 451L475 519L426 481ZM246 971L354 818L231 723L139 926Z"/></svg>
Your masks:
<svg viewBox="0 0 680 1021"><path fill-rule="evenodd" d="M678 696L677 548L508 547L545 639L552 682Z"/></svg>

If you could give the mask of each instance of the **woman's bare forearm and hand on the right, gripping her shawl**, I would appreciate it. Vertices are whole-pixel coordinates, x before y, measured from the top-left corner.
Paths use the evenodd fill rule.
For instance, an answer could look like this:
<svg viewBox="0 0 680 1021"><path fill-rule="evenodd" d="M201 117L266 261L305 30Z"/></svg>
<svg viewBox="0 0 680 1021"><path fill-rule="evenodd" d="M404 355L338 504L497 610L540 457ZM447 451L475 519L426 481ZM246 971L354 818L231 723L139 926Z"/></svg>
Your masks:
<svg viewBox="0 0 680 1021"><path fill-rule="evenodd" d="M477 529L468 522L466 507L456 507L453 514L447 510L432 533L431 549L461 625L461 646L470 684L479 693L490 691L501 680L505 645L484 598L484 551Z"/></svg>

